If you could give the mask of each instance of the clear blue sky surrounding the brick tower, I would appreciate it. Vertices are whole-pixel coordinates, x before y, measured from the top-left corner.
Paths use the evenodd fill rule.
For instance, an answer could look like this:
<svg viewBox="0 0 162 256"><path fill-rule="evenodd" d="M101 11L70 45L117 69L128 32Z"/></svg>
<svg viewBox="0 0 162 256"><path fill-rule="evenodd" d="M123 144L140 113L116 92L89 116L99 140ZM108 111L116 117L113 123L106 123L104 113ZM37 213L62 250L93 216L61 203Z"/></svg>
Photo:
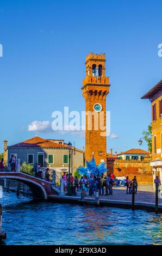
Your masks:
<svg viewBox="0 0 162 256"><path fill-rule="evenodd" d="M31 132L33 121L52 121L52 112L84 111L82 80L89 52L105 52L110 77L107 110L111 133L107 148L139 148L151 120L148 100L141 100L161 80L161 1L0 1L1 133L8 144L36 134L75 141L73 133ZM142 145L147 149L147 145Z"/></svg>

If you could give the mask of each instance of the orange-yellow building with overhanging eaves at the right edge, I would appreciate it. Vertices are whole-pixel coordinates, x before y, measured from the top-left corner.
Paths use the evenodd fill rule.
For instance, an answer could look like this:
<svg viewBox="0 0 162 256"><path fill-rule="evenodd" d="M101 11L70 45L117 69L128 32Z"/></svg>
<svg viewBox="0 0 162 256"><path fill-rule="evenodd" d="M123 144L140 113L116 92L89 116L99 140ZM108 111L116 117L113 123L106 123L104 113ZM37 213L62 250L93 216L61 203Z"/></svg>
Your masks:
<svg viewBox="0 0 162 256"><path fill-rule="evenodd" d="M155 84L141 99L151 101L152 118L152 166L153 180L159 175L162 180L162 80Z"/></svg>

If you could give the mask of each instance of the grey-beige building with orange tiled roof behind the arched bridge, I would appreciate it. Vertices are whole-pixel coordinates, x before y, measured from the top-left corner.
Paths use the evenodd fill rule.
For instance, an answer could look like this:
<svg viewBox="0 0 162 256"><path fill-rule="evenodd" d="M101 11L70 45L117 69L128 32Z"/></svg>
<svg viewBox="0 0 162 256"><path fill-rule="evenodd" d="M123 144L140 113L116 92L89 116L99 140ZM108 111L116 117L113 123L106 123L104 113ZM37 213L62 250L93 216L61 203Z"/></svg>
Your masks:
<svg viewBox="0 0 162 256"><path fill-rule="evenodd" d="M4 161L9 161L14 155L16 159L29 164L41 163L41 167L55 169L60 176L68 171L69 150L63 140L43 139L38 136L27 141L7 146L4 141ZM83 151L72 147L71 149L71 172L74 174L79 166L83 166Z"/></svg>

